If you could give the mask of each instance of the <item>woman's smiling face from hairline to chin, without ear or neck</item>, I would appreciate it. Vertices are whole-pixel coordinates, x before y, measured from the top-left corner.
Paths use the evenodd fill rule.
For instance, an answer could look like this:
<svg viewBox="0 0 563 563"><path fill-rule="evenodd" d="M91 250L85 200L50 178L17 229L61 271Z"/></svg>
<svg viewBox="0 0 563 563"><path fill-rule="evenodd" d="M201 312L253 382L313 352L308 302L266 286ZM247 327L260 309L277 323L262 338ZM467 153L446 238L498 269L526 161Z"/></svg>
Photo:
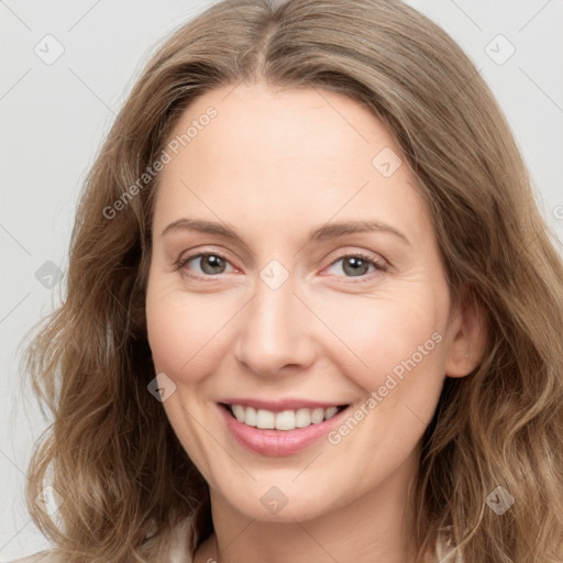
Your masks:
<svg viewBox="0 0 563 563"><path fill-rule="evenodd" d="M148 340L212 498L289 521L405 489L459 325L389 132L343 96L253 85L198 98L168 141Z"/></svg>

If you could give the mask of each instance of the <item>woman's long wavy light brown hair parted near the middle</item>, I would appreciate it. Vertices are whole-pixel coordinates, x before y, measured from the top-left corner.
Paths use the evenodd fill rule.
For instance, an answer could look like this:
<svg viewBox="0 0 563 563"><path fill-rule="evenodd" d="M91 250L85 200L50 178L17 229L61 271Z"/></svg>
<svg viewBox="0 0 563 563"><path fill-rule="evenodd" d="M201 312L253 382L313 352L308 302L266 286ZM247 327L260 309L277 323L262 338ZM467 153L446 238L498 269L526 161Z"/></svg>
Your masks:
<svg viewBox="0 0 563 563"><path fill-rule="evenodd" d="M143 174L190 101L241 81L341 92L382 120L428 202L453 301L486 316L483 361L445 379L424 433L417 561L443 537L466 563L561 563L562 261L479 73L395 0L223 1L153 54L87 176L63 305L26 355L53 413L29 473L35 523L68 563L156 561L188 519L194 551L212 531L208 486L147 391L158 175ZM47 476L65 499L53 516L34 501ZM487 505L499 486L515 499L503 515Z"/></svg>

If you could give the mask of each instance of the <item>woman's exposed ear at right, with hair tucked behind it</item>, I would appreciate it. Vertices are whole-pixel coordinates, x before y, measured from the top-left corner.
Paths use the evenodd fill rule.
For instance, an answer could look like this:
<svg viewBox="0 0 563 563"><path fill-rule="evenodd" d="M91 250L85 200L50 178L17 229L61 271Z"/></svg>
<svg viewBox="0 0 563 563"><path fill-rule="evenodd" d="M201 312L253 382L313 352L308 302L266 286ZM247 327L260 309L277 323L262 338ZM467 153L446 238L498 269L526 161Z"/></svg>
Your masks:
<svg viewBox="0 0 563 563"><path fill-rule="evenodd" d="M445 375L470 375L485 355L488 338L487 314L474 299L461 300L451 317L451 341L445 356Z"/></svg>

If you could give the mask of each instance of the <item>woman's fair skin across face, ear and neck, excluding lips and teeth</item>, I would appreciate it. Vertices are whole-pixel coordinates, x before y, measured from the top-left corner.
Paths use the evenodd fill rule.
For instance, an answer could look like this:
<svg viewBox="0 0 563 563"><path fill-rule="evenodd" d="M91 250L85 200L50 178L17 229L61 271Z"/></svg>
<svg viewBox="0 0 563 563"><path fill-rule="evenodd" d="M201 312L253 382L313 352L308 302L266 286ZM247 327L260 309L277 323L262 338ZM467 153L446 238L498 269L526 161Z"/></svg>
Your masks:
<svg viewBox="0 0 563 563"><path fill-rule="evenodd" d="M413 561L408 498L420 440L444 378L478 362L481 317L452 306L417 180L379 120L329 91L233 88L195 100L170 135L217 109L162 172L146 296L156 373L176 385L163 406L211 492L216 532L195 561ZM402 159L389 177L372 165L385 147ZM241 240L163 234L183 218L227 224ZM358 220L408 242L389 231L310 241L319 227ZM185 262L198 252L224 256L222 273ZM357 252L385 271L344 269ZM277 289L260 277L272 260L289 275ZM323 438L264 456L239 445L218 410L231 396L353 412L433 333L441 342L338 445ZM287 497L277 515L261 503L274 485Z"/></svg>

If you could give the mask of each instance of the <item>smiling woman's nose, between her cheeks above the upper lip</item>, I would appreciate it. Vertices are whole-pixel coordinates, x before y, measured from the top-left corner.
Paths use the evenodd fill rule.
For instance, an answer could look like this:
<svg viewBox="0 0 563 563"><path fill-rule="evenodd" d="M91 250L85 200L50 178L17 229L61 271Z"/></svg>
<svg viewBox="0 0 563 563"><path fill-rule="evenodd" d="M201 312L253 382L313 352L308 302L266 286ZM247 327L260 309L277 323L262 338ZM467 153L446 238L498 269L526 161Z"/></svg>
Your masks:
<svg viewBox="0 0 563 563"><path fill-rule="evenodd" d="M271 377L303 371L314 362L312 314L290 280L272 289L258 279L242 312L234 351L247 369Z"/></svg>

